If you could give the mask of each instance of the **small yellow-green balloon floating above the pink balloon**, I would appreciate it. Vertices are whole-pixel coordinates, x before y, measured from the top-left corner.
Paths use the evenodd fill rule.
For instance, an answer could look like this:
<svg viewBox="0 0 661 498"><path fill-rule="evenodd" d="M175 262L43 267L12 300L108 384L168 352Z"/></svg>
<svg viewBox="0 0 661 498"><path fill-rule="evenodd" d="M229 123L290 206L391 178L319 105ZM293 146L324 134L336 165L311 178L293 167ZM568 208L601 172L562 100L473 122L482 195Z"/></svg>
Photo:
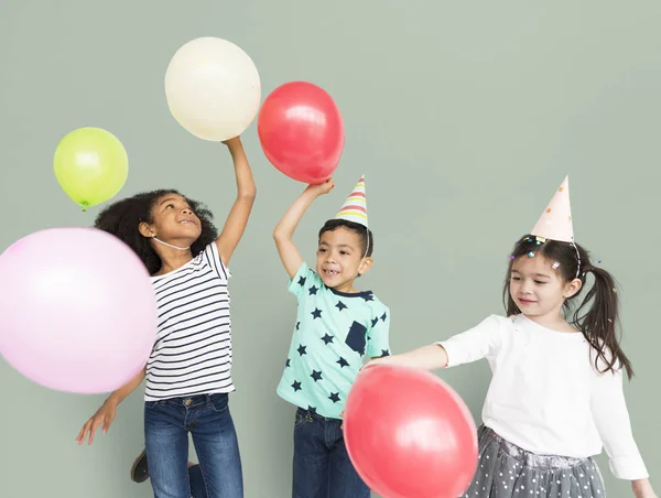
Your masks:
<svg viewBox="0 0 661 498"><path fill-rule="evenodd" d="M62 190L83 210L115 197L129 176L129 158L121 142L100 128L79 128L65 136L54 159Z"/></svg>

